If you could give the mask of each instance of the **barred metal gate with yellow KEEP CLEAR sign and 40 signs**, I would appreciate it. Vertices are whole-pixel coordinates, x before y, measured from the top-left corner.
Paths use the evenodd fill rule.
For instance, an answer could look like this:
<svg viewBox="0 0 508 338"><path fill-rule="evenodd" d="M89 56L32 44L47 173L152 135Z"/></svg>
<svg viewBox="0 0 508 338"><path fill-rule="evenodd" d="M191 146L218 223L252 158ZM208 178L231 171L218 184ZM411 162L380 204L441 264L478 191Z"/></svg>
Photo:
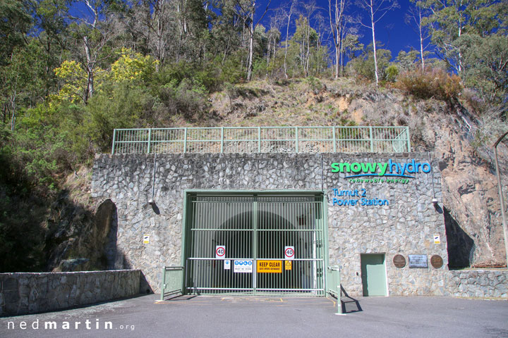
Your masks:
<svg viewBox="0 0 508 338"><path fill-rule="evenodd" d="M187 292L324 296L322 199L189 196Z"/></svg>

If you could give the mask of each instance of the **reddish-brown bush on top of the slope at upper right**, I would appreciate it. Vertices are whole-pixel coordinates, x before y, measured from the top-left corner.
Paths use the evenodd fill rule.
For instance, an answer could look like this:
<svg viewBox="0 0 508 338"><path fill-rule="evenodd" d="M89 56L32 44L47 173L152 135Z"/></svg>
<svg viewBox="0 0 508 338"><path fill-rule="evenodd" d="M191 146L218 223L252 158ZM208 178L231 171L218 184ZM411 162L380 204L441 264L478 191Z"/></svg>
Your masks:
<svg viewBox="0 0 508 338"><path fill-rule="evenodd" d="M401 73L395 87L418 99L434 98L447 102L456 100L462 90L461 78L449 75L441 68Z"/></svg>

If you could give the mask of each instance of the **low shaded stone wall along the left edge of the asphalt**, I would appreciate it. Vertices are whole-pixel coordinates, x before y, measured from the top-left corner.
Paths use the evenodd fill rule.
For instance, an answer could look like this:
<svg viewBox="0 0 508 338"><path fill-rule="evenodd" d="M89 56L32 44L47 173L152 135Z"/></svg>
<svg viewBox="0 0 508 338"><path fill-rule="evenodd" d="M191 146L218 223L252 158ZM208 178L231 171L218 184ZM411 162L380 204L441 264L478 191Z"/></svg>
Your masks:
<svg viewBox="0 0 508 338"><path fill-rule="evenodd" d="M140 292L140 270L0 273L0 315L54 311Z"/></svg>

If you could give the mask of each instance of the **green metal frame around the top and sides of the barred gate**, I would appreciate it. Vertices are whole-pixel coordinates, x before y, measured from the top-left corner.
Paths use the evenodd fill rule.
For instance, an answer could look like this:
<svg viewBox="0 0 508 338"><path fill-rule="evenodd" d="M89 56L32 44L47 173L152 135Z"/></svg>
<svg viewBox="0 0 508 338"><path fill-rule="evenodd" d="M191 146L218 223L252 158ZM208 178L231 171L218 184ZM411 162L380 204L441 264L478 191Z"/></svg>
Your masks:
<svg viewBox="0 0 508 338"><path fill-rule="evenodd" d="M188 213L190 212L190 208L188 208L188 200L189 197L193 194L210 194L210 195L228 195L228 194L238 194L238 195L252 195L252 194L263 194L263 195L293 195L293 194L308 194L315 196L322 196L322 217L323 217L323 287L325 289L325 296L327 294L328 280L327 280L327 269L328 269L328 261L329 261L329 251L328 251L328 190L327 189L309 189L309 190L301 190L301 189L265 189L265 190L248 190L248 189L185 189L183 191L183 215L182 215L182 230L181 230L181 266L184 267L185 272L183 273L182 280L182 289L183 294L187 294L186 290L186 282L187 282L187 270L186 270L186 257L188 247L186 245L186 235L187 235L187 220L190 218Z"/></svg>

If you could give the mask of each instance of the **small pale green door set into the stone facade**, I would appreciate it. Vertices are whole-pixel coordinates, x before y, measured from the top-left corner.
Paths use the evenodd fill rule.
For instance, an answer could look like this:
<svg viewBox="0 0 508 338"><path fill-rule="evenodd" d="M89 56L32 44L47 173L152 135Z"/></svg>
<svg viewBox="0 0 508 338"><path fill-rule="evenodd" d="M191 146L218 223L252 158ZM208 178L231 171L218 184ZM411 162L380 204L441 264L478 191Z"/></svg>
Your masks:
<svg viewBox="0 0 508 338"><path fill-rule="evenodd" d="M385 254L372 253L360 256L363 296L386 296Z"/></svg>

